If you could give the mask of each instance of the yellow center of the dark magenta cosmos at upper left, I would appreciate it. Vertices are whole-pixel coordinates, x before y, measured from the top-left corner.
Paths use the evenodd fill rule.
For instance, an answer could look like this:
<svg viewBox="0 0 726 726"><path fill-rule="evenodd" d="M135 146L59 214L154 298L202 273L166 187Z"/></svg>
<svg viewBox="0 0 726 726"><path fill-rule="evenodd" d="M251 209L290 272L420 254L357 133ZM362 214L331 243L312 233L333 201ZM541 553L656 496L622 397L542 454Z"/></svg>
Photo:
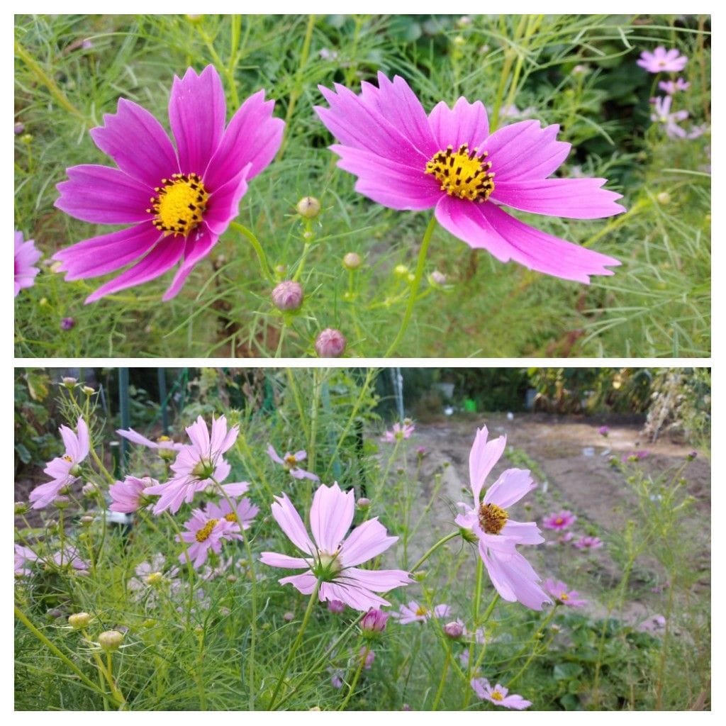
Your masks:
<svg viewBox="0 0 726 726"><path fill-rule="evenodd" d="M172 174L162 179L163 187L154 187L156 197L151 197L154 227L165 234L181 234L186 237L198 227L207 209L209 194L197 174Z"/></svg>

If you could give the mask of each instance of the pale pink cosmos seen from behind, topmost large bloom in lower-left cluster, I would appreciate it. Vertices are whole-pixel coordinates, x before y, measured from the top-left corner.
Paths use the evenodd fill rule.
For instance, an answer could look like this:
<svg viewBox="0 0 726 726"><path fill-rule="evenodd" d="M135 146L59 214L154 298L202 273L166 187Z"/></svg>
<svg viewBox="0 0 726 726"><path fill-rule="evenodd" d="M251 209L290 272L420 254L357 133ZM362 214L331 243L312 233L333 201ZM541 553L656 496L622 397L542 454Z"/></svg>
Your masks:
<svg viewBox="0 0 726 726"><path fill-rule="evenodd" d="M197 417L195 423L187 427L187 436L192 444L182 446L171 465L174 476L164 484L144 489L144 494L161 494L154 507L154 514L167 509L176 513L182 502L191 502L197 492L208 486L216 486L215 482L224 481L232 467L222 454L237 441L239 433L238 426L232 426L227 431L227 418L220 416L212 417L210 436L205 420L201 416ZM226 484L223 488L229 496L237 496L244 494L249 484Z"/></svg>

